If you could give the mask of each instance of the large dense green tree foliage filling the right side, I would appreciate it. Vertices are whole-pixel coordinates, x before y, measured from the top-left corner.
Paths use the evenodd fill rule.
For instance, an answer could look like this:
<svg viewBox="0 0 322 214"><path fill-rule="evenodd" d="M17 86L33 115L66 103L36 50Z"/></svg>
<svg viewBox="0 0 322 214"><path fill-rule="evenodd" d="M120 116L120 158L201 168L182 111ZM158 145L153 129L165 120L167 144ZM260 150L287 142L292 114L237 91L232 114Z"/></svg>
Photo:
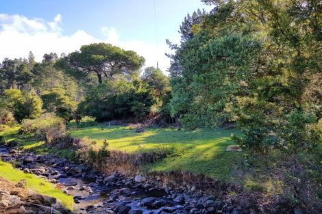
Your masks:
<svg viewBox="0 0 322 214"><path fill-rule="evenodd" d="M204 2L215 10L171 44L172 115L190 129L236 122L236 141L264 157L321 144L318 1Z"/></svg>

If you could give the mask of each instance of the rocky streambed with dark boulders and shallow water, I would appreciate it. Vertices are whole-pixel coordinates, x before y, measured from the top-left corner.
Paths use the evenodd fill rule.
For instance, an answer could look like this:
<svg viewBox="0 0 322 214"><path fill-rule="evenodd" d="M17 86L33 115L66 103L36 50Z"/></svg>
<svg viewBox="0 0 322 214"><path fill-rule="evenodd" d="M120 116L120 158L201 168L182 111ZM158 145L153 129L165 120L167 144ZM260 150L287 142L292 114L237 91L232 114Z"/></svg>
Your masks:
<svg viewBox="0 0 322 214"><path fill-rule="evenodd" d="M73 196L75 213L250 213L232 206L222 209L220 200L214 200L194 187L177 191L153 185L141 175L134 178L117 173L106 175L54 155L36 155L0 146L0 157L25 173L48 179Z"/></svg>

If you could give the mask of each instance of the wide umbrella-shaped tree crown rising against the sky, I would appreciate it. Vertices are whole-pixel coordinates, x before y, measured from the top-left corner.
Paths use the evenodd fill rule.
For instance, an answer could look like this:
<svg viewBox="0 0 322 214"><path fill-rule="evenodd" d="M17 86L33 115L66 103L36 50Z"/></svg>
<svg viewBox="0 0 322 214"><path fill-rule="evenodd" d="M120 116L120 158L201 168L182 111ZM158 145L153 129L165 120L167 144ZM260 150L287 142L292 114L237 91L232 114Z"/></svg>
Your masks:
<svg viewBox="0 0 322 214"><path fill-rule="evenodd" d="M103 77L111 79L115 75L131 76L143 66L145 59L134 51L125 51L112 44L99 43L81 47L62 59L60 66L84 72L94 72L99 83Z"/></svg>

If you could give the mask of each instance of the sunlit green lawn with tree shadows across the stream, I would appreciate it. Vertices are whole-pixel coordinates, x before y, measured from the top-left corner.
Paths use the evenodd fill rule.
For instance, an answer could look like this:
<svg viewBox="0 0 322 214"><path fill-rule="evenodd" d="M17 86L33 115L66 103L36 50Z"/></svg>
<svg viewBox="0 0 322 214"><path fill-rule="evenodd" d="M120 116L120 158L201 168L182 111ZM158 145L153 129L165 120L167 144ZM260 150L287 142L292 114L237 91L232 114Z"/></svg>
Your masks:
<svg viewBox="0 0 322 214"><path fill-rule="evenodd" d="M107 139L112 150L125 152L146 152L164 149L171 151L166 159L148 166L150 171L167 172L185 170L195 174L206 174L212 178L230 180L232 167L238 163L240 152L226 152L235 144L231 135L240 135L236 129L197 129L177 131L177 129L147 129L145 133L135 133L125 126L105 126L99 124L70 131L73 137L88 137L102 144Z"/></svg>

